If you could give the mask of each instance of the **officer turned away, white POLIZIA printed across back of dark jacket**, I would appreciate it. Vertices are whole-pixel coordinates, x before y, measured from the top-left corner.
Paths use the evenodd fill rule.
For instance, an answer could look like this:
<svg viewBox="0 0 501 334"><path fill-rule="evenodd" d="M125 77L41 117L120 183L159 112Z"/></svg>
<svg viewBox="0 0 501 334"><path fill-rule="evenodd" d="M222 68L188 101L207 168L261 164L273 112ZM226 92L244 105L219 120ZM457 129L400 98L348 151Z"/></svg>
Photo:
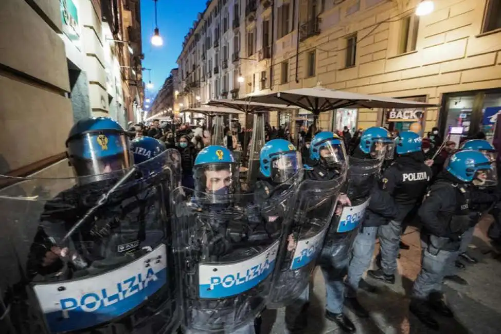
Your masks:
<svg viewBox="0 0 501 334"><path fill-rule="evenodd" d="M381 268L369 270L367 275L389 284L395 283L402 221L424 196L432 177L431 168L424 164L421 137L418 134L401 132L395 144L397 159L384 172L381 187L395 200L399 214L388 223L387 220L367 221L367 226L372 226L369 225L371 223L375 226L381 224L378 230Z"/></svg>

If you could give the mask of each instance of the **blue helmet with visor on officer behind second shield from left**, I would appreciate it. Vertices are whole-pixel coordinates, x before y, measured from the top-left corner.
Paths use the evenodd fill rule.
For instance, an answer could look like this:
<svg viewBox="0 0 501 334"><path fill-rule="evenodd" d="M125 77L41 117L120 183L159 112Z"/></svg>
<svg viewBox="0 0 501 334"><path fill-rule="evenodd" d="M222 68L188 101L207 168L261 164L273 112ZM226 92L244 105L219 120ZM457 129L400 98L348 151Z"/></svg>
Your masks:
<svg viewBox="0 0 501 334"><path fill-rule="evenodd" d="M239 170L224 146L204 147L193 166L195 197L201 203L226 203L237 192Z"/></svg>

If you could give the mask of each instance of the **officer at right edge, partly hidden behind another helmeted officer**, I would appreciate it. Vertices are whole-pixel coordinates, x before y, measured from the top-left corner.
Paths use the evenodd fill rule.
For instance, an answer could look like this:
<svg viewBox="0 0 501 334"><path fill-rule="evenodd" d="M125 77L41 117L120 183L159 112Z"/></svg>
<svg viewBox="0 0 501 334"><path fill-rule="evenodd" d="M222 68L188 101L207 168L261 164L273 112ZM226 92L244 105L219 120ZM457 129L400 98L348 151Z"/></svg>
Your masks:
<svg viewBox="0 0 501 334"><path fill-rule="evenodd" d="M485 139L467 140L461 145L460 150L480 151L493 162L497 158L496 149ZM472 181L470 186L470 228L461 235L461 246L458 250L458 256L464 261L471 264L477 263L477 259L470 256L466 250L473 239L475 226L480 220L482 213L492 209L498 200L497 173L496 166L493 164L492 169L488 170L484 179L477 177ZM454 264L455 262L451 262L449 270L444 277L445 280L450 280L461 285L468 284L462 277L457 275L457 267Z"/></svg>

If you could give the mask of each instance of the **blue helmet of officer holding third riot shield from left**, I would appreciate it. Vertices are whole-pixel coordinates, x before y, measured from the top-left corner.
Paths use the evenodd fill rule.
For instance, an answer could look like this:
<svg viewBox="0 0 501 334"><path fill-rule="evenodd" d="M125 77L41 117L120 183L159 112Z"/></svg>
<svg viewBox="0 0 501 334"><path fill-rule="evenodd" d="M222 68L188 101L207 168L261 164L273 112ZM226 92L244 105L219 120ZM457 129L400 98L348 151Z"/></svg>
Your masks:
<svg viewBox="0 0 501 334"><path fill-rule="evenodd" d="M343 141L332 132L323 131L311 140L310 159L326 165L328 168L346 163L346 151Z"/></svg>

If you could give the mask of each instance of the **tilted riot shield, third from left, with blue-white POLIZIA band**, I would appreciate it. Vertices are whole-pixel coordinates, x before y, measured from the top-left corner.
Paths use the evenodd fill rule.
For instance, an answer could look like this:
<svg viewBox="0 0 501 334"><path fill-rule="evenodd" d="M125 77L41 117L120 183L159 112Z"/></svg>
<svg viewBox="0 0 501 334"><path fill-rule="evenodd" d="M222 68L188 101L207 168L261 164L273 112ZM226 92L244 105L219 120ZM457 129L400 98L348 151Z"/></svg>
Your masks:
<svg viewBox="0 0 501 334"><path fill-rule="evenodd" d="M346 174L328 181L303 180L298 187L292 224L280 249L266 307L280 308L296 300L310 282L334 215Z"/></svg>

